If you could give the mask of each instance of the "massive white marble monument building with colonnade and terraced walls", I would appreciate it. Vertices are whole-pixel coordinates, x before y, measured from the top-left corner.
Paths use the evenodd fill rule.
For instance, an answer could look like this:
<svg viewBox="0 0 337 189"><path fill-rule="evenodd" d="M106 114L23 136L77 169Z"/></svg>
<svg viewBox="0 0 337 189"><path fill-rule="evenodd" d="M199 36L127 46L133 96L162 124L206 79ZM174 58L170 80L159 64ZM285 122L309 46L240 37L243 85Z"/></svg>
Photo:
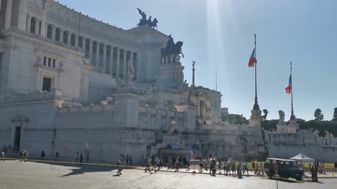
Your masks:
<svg viewBox="0 0 337 189"><path fill-rule="evenodd" d="M267 155L260 112L250 125L222 123L222 94L189 85L175 57L162 61L166 34L114 27L51 0L1 0L0 21L0 144L12 151L137 162L174 143L204 157Z"/></svg>

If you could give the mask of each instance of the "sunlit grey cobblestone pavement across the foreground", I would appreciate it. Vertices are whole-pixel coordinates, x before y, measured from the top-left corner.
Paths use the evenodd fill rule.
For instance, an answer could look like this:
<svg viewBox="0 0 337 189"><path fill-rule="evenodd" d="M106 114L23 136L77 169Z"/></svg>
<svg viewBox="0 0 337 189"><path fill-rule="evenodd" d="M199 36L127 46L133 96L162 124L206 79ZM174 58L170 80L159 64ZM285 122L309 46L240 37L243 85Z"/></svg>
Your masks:
<svg viewBox="0 0 337 189"><path fill-rule="evenodd" d="M0 188L276 188L276 181L244 177L181 172L145 173L124 169L116 176L113 167L90 165L51 165L37 162L0 162ZM319 183L279 181L279 189L336 188L337 179L319 179Z"/></svg>

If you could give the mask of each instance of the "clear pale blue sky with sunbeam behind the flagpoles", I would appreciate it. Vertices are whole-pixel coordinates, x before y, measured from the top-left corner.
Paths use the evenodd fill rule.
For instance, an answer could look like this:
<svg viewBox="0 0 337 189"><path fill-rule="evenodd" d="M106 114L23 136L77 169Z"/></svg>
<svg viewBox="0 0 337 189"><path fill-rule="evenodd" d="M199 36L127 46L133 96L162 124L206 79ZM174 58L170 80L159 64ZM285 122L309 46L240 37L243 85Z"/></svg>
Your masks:
<svg viewBox="0 0 337 189"><path fill-rule="evenodd" d="M185 79L216 88L221 106L230 113L251 116L254 70L248 61L257 34L258 102L278 118L290 117L291 96L286 94L293 62L293 106L297 118L311 120L322 109L331 120L337 107L337 1L334 0L59 0L75 10L111 25L131 29L140 8L157 18L159 31L183 41Z"/></svg>

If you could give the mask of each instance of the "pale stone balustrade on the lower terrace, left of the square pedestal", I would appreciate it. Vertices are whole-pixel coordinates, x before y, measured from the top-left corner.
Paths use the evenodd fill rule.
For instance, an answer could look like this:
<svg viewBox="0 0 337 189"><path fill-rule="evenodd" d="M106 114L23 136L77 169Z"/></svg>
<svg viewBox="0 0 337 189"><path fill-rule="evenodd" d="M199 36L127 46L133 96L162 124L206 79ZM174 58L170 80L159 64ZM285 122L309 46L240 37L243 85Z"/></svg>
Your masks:
<svg viewBox="0 0 337 189"><path fill-rule="evenodd" d="M114 111L113 104L105 105L92 105L92 106L69 106L65 108L59 108L59 113L72 113L72 112L103 112Z"/></svg>

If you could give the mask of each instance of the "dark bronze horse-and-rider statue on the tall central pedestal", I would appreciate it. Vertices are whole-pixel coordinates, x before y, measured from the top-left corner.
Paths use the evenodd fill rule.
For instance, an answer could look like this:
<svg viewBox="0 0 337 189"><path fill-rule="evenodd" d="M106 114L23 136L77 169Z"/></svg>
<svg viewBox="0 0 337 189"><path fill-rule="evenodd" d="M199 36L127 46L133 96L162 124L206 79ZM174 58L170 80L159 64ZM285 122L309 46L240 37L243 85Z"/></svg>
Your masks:
<svg viewBox="0 0 337 189"><path fill-rule="evenodd" d="M169 35L169 41L167 41L166 47L161 48L161 62L179 62L180 60L180 54L183 55L183 52L181 52L181 47L183 46L183 41L178 41L177 43L174 43L173 38L171 34ZM170 57L173 56L173 59L170 59Z"/></svg>

